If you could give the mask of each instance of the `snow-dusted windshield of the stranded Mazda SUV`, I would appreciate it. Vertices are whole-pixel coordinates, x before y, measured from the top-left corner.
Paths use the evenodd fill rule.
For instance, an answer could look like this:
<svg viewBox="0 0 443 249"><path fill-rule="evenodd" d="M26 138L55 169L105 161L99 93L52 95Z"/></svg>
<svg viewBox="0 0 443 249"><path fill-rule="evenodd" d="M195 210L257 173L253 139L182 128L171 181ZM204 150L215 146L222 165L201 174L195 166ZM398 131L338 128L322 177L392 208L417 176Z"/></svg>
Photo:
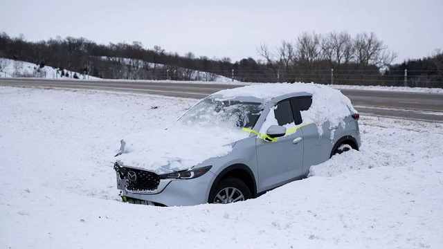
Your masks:
<svg viewBox="0 0 443 249"><path fill-rule="evenodd" d="M177 123L205 127L252 128L262 109L263 104L259 102L206 98L186 112Z"/></svg>

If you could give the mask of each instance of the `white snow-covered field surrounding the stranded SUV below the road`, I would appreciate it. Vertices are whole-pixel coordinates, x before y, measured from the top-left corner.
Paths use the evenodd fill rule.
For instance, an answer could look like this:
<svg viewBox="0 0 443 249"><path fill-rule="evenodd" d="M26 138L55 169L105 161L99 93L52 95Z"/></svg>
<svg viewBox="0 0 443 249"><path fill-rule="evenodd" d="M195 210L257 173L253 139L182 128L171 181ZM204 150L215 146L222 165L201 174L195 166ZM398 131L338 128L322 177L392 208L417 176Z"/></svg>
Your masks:
<svg viewBox="0 0 443 249"><path fill-rule="evenodd" d="M122 203L118 141L194 103L0 87L0 248L443 248L441 123L361 116L361 151L243 203Z"/></svg>

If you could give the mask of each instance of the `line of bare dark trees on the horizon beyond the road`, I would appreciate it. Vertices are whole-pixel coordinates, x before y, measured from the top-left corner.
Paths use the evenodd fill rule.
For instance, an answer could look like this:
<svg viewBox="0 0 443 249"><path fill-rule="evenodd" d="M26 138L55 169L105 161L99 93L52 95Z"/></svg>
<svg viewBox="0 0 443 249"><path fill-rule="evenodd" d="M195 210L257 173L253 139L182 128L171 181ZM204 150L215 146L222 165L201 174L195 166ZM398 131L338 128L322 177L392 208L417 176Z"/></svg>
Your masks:
<svg viewBox="0 0 443 249"><path fill-rule="evenodd" d="M196 57L192 52L179 55L161 46L144 48L141 42L105 45L82 37L29 42L24 35L0 33L0 57L106 79L217 80L216 76L222 75L242 82L400 86L407 69L409 86L442 87L442 52L392 64L397 54L374 33L354 37L347 32L302 33L275 48L262 44L257 54L260 59L248 57L232 62L229 57Z"/></svg>

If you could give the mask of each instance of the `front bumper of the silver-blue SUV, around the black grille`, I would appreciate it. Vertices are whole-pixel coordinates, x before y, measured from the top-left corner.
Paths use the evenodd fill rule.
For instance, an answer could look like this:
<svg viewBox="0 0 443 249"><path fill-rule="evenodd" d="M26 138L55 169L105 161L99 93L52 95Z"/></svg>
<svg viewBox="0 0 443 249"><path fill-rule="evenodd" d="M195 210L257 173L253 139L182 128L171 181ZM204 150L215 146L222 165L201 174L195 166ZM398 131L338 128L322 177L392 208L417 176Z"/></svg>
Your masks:
<svg viewBox="0 0 443 249"><path fill-rule="evenodd" d="M208 203L210 187L215 180L212 172L206 172L203 176L193 179L175 180L161 179L155 190L128 190L129 180L117 176L117 188L123 200L138 203L134 200L142 200L148 205L181 206L198 205Z"/></svg>

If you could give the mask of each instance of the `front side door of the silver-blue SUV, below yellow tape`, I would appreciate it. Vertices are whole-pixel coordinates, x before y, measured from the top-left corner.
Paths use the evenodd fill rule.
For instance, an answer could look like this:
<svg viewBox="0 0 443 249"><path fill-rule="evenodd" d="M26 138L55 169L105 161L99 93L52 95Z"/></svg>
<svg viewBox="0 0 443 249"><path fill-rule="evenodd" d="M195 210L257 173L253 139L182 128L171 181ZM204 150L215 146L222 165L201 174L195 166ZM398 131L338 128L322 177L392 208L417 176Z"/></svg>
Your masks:
<svg viewBox="0 0 443 249"><path fill-rule="evenodd" d="M278 125L287 127L295 126L293 110L289 100L284 100L271 109L266 119L273 119ZM269 122L264 122L264 124ZM268 127L262 127L261 131ZM259 187L258 192L278 187L302 174L303 163L303 136L302 131L297 131L278 138L276 142L268 142L261 138L256 140L257 168Z"/></svg>

